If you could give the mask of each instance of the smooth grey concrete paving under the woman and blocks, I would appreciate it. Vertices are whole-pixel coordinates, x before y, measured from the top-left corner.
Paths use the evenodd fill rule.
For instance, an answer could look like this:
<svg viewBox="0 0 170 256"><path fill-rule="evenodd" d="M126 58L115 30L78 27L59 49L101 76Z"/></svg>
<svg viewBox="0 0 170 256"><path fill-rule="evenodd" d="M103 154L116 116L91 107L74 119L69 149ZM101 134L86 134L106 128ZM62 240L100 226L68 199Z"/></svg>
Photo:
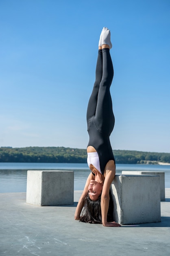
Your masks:
<svg viewBox="0 0 170 256"><path fill-rule="evenodd" d="M0 256L169 256L170 189L161 222L103 227L74 220L81 191L70 206L26 204L26 193L0 193Z"/></svg>

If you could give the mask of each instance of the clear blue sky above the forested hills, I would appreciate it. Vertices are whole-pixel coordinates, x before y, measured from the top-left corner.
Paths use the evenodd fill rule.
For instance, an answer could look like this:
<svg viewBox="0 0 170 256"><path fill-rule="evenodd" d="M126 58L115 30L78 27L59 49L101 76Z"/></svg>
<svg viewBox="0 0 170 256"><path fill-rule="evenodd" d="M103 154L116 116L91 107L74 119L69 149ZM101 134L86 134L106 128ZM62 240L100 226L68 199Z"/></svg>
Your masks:
<svg viewBox="0 0 170 256"><path fill-rule="evenodd" d="M0 146L86 148L102 27L112 148L170 153L169 0L0 0Z"/></svg>

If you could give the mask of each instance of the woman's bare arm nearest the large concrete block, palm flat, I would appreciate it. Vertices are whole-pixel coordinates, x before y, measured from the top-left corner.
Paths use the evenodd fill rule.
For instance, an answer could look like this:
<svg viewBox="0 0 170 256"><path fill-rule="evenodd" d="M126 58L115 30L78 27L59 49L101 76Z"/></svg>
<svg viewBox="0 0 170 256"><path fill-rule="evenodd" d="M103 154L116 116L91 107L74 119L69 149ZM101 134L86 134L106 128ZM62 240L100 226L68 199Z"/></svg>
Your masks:
<svg viewBox="0 0 170 256"><path fill-rule="evenodd" d="M102 212L102 225L105 227L120 227L121 225L116 222L107 222L107 213L109 209L109 189L111 182L115 177L115 166L112 163L113 160L109 161L106 166L105 182L103 184L102 195L101 195L101 212Z"/></svg>

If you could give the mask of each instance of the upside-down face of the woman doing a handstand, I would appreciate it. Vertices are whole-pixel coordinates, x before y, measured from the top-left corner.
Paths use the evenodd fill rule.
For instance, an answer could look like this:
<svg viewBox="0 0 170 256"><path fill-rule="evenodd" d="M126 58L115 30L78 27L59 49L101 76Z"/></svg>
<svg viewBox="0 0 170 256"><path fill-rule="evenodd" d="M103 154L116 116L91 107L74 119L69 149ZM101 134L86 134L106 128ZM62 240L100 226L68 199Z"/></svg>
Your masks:
<svg viewBox="0 0 170 256"><path fill-rule="evenodd" d="M96 180L91 180L88 186L89 198L93 201L98 200L99 195L102 193L103 182L97 182Z"/></svg>

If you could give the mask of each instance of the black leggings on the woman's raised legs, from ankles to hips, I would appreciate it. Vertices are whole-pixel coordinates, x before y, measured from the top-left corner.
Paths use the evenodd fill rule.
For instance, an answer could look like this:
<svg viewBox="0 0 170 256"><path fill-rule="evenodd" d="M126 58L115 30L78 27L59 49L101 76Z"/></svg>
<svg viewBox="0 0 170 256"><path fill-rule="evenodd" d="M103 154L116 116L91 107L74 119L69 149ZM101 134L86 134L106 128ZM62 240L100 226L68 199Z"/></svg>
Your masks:
<svg viewBox="0 0 170 256"><path fill-rule="evenodd" d="M94 117L97 129L105 136L111 134L115 122L110 95L112 79L113 64L109 49L98 50L96 81L87 107L87 124Z"/></svg>

